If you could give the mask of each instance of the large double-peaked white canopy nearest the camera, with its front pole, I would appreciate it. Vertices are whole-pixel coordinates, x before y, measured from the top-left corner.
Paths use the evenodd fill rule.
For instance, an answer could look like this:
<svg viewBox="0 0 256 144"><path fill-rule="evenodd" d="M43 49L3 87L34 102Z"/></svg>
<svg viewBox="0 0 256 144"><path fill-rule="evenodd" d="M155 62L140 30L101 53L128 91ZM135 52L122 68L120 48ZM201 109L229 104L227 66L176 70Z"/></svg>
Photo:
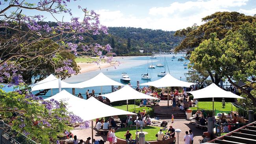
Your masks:
<svg viewBox="0 0 256 144"><path fill-rule="evenodd" d="M63 101L67 103L67 110L69 112L74 113L77 116L80 116L83 120L91 120L92 139L93 139L93 119L101 118L105 116L135 114L135 113L131 113L128 111L124 111L124 110L106 105L96 100L93 96L90 97L88 100L78 98L70 94L66 90L62 90L58 94L51 96L50 98L46 98L45 100L50 100L52 98L54 100ZM103 109L103 111L98 111L97 109L98 107Z"/></svg>

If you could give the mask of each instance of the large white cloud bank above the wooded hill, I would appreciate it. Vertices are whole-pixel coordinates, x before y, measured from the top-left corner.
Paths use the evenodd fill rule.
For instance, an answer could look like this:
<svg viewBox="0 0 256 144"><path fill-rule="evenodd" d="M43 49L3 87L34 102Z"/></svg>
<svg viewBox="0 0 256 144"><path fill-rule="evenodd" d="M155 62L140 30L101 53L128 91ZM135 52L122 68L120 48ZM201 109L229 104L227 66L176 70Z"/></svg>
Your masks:
<svg viewBox="0 0 256 144"><path fill-rule="evenodd" d="M100 22L106 26L125 26L135 28L150 28L161 30L179 30L193 24L202 24L201 18L216 11L230 11L230 7L246 5L248 0L198 0L196 2L174 2L167 7L152 7L144 18L134 16L132 13L121 11L98 10ZM252 10L240 9L245 15L255 14Z"/></svg>

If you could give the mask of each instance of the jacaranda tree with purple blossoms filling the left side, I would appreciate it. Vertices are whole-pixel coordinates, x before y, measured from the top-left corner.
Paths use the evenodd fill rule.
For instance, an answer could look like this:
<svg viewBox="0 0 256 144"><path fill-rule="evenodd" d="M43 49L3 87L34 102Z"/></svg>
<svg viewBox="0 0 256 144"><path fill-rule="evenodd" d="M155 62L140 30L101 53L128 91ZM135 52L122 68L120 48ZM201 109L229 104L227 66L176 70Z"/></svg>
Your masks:
<svg viewBox="0 0 256 144"><path fill-rule="evenodd" d="M72 17L69 3L70 0L0 0L0 82L18 88L14 92L0 90L0 116L13 129L42 144L56 143L58 133L74 124L85 128L89 125L67 112L65 103L43 101L31 94L21 72L30 72L33 70L30 64L43 61L51 64L53 73L65 78L77 72L67 54L98 55L100 61L104 58L102 51L111 50L109 44L100 46L83 39L84 33L108 34L106 26L100 24L99 15L78 6L81 17ZM34 11L50 13L57 24L44 22L45 17L33 15ZM68 13L70 21L55 17L61 13ZM112 58L104 59L110 62Z"/></svg>

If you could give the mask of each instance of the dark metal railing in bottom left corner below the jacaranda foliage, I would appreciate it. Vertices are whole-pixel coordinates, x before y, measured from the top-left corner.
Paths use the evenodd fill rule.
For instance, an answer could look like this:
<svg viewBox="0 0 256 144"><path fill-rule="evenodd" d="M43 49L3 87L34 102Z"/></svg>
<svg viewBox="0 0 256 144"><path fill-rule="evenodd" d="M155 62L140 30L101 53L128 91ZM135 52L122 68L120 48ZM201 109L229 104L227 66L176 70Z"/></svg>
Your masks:
<svg viewBox="0 0 256 144"><path fill-rule="evenodd" d="M19 131L16 131L4 122L0 122L0 127L4 129L3 137L13 144L37 144L32 139L26 137L26 135L23 135Z"/></svg>

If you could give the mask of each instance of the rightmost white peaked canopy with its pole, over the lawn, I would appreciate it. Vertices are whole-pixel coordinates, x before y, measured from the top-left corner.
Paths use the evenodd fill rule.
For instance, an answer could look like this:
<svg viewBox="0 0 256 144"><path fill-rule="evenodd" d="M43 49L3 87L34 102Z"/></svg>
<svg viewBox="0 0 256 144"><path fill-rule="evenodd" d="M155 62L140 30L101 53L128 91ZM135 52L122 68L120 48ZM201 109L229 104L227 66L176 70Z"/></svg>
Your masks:
<svg viewBox="0 0 256 144"><path fill-rule="evenodd" d="M241 96L237 96L236 94L233 94L232 92L228 92L226 90L221 89L220 87L215 85L215 83L212 83L211 85L209 85L208 87L205 87L204 89L190 91L187 93L192 94L195 99L212 98L212 111L214 111L214 98L243 98Z"/></svg>

